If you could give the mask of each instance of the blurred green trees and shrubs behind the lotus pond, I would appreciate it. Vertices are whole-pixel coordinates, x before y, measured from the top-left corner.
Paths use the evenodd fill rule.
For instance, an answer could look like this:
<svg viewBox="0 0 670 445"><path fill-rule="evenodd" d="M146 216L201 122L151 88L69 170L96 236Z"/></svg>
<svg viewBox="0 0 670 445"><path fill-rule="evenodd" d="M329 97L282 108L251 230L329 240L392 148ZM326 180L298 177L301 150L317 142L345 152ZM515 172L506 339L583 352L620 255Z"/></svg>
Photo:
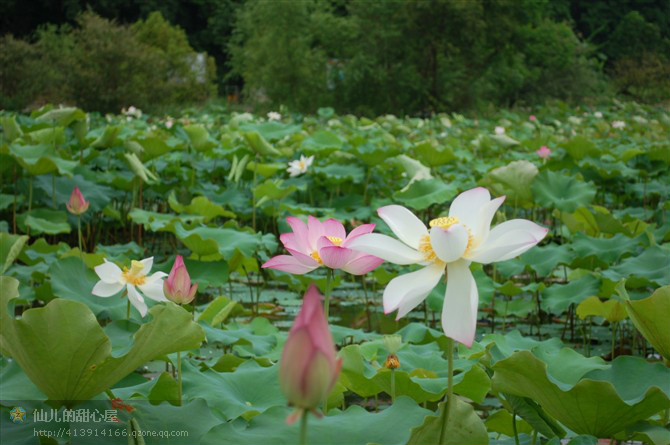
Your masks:
<svg viewBox="0 0 670 445"><path fill-rule="evenodd" d="M668 0L4 0L0 107L428 114L670 98Z"/></svg>

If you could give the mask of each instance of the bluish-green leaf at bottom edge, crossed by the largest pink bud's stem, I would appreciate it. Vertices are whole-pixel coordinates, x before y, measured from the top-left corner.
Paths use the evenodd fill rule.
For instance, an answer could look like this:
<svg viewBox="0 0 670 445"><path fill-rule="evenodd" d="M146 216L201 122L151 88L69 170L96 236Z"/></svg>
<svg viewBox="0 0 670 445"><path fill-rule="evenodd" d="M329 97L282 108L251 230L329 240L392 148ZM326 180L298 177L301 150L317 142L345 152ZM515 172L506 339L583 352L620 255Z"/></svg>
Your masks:
<svg viewBox="0 0 670 445"><path fill-rule="evenodd" d="M270 408L254 417L248 424L228 422L214 427L202 439L202 444L273 444L298 443L300 426L286 424L292 409L284 406ZM421 423L431 412L414 401L400 397L395 404L380 413L371 413L360 406L346 411L331 410L322 419L310 415L307 424L307 444L319 445L403 445L410 429Z"/></svg>

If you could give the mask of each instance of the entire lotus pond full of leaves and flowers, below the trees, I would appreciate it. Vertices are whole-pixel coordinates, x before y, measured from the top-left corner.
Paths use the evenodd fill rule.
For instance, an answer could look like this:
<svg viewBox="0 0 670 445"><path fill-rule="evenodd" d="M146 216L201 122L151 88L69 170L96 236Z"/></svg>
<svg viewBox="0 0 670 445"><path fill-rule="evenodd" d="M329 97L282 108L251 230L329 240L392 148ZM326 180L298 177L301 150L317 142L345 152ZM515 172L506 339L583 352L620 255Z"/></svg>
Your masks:
<svg viewBox="0 0 670 445"><path fill-rule="evenodd" d="M0 125L2 443L670 444L667 108Z"/></svg>

